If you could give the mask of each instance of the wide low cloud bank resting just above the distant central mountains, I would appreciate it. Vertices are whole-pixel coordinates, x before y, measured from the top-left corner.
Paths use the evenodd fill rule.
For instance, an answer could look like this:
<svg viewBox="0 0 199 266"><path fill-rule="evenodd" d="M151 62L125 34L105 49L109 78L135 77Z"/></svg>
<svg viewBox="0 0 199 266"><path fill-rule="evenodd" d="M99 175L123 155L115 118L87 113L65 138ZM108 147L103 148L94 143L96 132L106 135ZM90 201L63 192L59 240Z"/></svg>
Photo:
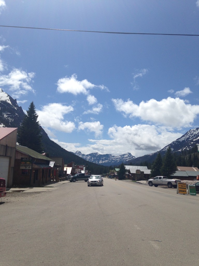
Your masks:
<svg viewBox="0 0 199 266"><path fill-rule="evenodd" d="M130 152L139 157L156 152L181 137L181 133L167 131L165 127L138 124L135 126L109 128L110 139L89 139L90 144L81 146L80 143L58 142L68 151L81 151L84 154L98 152L99 154L120 155Z"/></svg>

